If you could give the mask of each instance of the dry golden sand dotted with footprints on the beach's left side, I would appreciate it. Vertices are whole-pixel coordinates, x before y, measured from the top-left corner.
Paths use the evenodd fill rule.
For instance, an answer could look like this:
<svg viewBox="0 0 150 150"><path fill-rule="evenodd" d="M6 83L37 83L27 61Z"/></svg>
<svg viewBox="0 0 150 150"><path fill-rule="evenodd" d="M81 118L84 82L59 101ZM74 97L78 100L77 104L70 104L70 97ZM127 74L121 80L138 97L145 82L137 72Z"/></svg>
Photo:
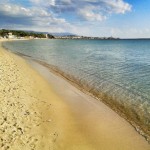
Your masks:
<svg viewBox="0 0 150 150"><path fill-rule="evenodd" d="M0 80L0 149L59 149L63 143L57 144L57 138L63 134L65 139L66 134L57 125L71 119L46 81L2 48Z"/></svg>

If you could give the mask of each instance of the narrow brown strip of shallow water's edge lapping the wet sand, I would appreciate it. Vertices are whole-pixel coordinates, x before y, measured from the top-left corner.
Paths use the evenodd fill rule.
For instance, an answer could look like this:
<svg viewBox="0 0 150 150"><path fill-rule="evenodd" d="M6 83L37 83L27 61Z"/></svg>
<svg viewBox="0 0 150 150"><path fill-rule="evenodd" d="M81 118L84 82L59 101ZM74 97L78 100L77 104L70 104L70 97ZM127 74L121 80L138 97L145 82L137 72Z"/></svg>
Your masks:
<svg viewBox="0 0 150 150"><path fill-rule="evenodd" d="M82 88L82 86L80 86L80 84L78 84L78 82L75 82L75 80L71 80L69 78L69 75L65 74L64 72L60 71L59 69L57 69L55 66L51 66L43 61L37 60L35 58L32 58L32 56L28 56L19 52L15 52L15 54L27 59L27 61L34 61L36 63L38 63L39 65L44 66L45 68L47 68L51 73L53 73L54 75L63 78L65 81L67 81L69 84L71 84L72 86L74 86L75 88L77 88L78 90L80 90L81 92L85 93L88 96L91 96L92 98L96 99L97 101L104 103L106 106L109 107L109 109L111 109L112 111L116 112L120 117L122 117L123 119L125 119L134 129L135 131L141 135L143 138L145 138L145 140L150 144L150 140L149 140L149 135L146 134L140 126L138 126L134 121L132 121L131 119L129 119L127 117L127 115L125 113L122 113L121 111L119 111L118 109L116 109L114 107L114 105L111 105L109 103L107 103L105 100L102 100L100 97L97 97L96 95L94 95L93 93L89 92L88 90ZM31 63L32 66L32 63Z"/></svg>

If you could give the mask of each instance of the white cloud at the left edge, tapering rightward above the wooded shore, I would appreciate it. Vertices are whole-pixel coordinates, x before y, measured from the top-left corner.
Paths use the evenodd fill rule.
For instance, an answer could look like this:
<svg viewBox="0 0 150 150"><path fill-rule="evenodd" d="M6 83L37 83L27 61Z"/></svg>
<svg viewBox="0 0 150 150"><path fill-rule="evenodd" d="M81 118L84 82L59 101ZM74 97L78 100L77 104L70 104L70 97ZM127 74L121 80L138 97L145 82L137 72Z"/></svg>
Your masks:
<svg viewBox="0 0 150 150"><path fill-rule="evenodd" d="M29 23L32 22L32 25L44 27L46 25L50 26L58 24L68 24L65 19L55 17L52 13L40 7L25 8L20 5L7 3L4 5L0 5L0 13L1 15L5 16L7 20L12 21L13 18L16 24L24 24L27 21Z"/></svg>

